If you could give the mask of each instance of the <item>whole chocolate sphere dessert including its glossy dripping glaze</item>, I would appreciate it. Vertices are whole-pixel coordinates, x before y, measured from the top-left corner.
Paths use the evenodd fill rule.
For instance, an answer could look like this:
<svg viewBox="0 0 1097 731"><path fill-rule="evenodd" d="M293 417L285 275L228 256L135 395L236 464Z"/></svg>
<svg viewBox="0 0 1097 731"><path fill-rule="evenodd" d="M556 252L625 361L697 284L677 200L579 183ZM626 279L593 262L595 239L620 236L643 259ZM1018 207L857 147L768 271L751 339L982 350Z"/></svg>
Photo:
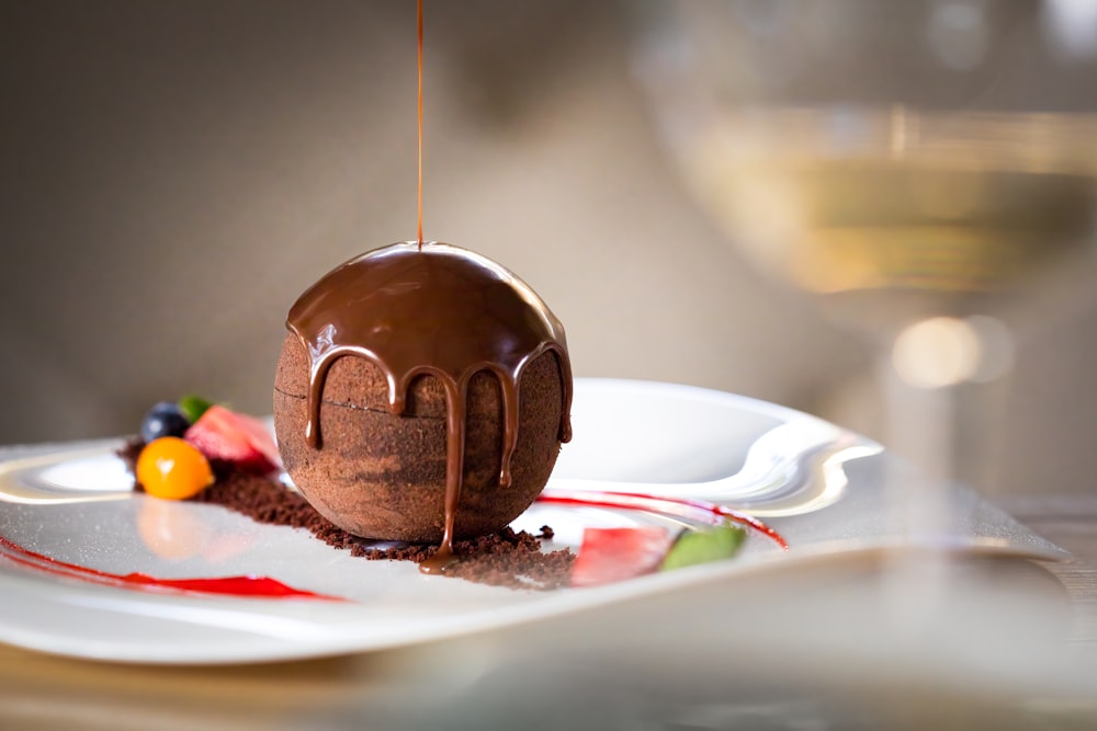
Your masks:
<svg viewBox="0 0 1097 731"><path fill-rule="evenodd" d="M501 529L544 488L569 432L564 330L499 264L393 244L324 276L286 325L279 448L339 527L445 548Z"/></svg>

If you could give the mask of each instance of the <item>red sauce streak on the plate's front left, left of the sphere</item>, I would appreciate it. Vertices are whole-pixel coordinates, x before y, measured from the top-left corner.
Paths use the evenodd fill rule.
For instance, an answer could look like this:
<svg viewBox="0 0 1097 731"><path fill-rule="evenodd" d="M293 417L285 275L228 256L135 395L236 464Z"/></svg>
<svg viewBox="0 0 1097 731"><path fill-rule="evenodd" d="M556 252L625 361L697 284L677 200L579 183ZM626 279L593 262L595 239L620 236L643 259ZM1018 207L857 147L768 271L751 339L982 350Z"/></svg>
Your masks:
<svg viewBox="0 0 1097 731"><path fill-rule="evenodd" d="M36 569L58 576L82 579L95 584L149 592L180 592L193 594L218 594L223 596L247 596L261 598L310 598L341 602L338 596L327 596L301 589L294 589L270 576L241 575L199 579L160 579L146 573L110 573L77 563L69 563L23 548L19 544L0 536L0 557L18 566Z"/></svg>

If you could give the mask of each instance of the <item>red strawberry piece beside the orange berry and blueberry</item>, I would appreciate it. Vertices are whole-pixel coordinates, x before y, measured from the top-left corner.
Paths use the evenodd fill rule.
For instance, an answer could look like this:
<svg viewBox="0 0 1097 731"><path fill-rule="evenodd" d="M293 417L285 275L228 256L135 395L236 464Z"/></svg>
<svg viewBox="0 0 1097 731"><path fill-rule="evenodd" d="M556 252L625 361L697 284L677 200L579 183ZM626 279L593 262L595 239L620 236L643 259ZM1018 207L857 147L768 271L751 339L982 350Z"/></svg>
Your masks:
<svg viewBox="0 0 1097 731"><path fill-rule="evenodd" d="M278 445L263 422L222 406L206 409L183 438L206 458L225 459L249 472L265 475L282 465Z"/></svg>

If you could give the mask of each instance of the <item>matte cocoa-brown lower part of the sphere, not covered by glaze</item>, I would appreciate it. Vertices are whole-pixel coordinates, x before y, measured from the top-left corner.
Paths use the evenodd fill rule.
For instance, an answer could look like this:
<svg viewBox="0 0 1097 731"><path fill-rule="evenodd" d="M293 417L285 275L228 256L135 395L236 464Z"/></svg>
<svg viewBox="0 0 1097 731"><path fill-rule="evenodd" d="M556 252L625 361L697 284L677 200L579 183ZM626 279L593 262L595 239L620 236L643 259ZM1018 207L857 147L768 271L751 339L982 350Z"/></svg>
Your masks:
<svg viewBox="0 0 1097 731"><path fill-rule="evenodd" d="M446 402L433 376L416 378L402 414L371 361L344 355L324 381L318 448L305 438L309 364L287 334L274 380L274 429L286 471L308 502L365 538L438 542L444 524ZM546 352L519 381L518 443L511 483L499 483L504 446L497 377L473 376L466 396L463 487L456 537L495 533L521 515L548 481L559 454L563 393L557 356Z"/></svg>

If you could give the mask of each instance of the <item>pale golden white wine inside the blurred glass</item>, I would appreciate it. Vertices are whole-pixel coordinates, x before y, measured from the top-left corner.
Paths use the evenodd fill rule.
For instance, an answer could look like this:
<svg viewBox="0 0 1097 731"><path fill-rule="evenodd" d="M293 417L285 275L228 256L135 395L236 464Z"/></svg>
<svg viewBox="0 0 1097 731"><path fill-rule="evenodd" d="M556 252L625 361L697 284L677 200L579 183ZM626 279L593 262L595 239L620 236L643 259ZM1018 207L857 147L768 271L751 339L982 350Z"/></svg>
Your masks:
<svg viewBox="0 0 1097 731"><path fill-rule="evenodd" d="M993 311L1084 259L1097 116L766 110L681 138L697 198L740 251L884 336Z"/></svg>

